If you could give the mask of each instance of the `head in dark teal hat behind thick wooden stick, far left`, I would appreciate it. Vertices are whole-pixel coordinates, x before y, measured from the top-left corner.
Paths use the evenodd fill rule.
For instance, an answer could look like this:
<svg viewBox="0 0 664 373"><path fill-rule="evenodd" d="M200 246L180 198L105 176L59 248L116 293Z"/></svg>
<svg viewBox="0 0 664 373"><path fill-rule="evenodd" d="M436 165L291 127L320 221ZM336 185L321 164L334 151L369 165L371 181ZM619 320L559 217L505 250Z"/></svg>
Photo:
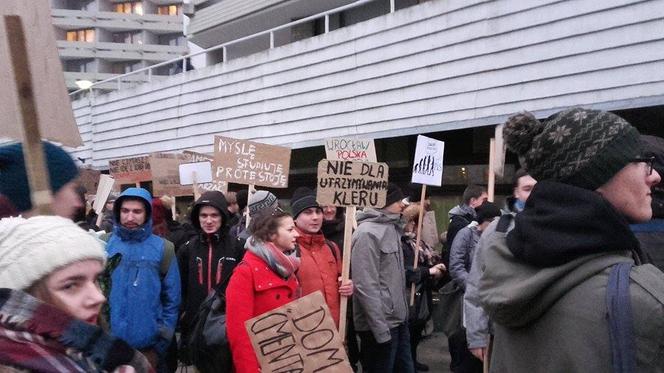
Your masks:
<svg viewBox="0 0 664 373"><path fill-rule="evenodd" d="M73 218L85 206L76 193L78 168L71 156L57 145L43 141L44 161L53 192L53 214ZM9 199L13 209L28 216L32 209L28 174L20 143L0 146L0 194Z"/></svg>

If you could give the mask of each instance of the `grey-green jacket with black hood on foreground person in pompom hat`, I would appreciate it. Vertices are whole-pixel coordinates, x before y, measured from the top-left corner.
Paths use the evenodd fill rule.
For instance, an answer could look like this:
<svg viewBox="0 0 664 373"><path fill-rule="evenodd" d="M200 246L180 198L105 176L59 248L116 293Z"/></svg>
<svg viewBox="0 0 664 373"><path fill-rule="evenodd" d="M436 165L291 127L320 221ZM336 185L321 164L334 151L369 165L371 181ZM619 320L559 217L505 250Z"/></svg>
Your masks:
<svg viewBox="0 0 664 373"><path fill-rule="evenodd" d="M617 263L640 264L625 219L596 192L543 181L510 233L487 234L479 295L495 322L491 370L612 371L608 275ZM664 274L637 265L629 290L636 371L661 372Z"/></svg>

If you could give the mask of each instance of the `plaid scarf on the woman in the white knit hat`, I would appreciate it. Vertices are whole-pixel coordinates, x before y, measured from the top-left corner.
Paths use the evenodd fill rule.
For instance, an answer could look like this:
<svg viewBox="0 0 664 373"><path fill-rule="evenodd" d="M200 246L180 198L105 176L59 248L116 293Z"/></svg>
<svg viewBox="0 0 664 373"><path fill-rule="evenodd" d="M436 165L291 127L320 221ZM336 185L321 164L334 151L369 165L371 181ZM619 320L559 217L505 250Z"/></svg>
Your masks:
<svg viewBox="0 0 664 373"><path fill-rule="evenodd" d="M147 359L101 328L20 291L0 289L0 366L36 372L152 372Z"/></svg>

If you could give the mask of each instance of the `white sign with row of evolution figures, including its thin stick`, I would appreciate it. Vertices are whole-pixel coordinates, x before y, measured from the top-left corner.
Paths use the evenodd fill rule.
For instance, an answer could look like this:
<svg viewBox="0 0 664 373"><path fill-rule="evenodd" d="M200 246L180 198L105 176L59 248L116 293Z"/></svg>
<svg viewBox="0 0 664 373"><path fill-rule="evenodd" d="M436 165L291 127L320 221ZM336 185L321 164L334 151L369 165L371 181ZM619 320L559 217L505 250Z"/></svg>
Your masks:
<svg viewBox="0 0 664 373"><path fill-rule="evenodd" d="M419 261L419 246L422 240L422 222L424 216L424 199L426 197L427 185L441 186L443 183L443 154L445 143L426 136L417 136L415 147L415 158L413 161L413 175L411 182L422 184L420 196L420 212L417 220L417 236L415 238L415 261L413 268L417 268ZM410 305L415 301L415 283L410 288Z"/></svg>

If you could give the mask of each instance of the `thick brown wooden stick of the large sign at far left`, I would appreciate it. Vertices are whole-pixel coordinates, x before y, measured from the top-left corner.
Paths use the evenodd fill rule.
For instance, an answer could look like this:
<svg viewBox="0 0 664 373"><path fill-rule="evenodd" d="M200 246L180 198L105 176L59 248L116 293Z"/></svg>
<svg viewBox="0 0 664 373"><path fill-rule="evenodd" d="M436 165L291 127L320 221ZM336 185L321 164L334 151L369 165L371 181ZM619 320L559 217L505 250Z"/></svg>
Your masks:
<svg viewBox="0 0 664 373"><path fill-rule="evenodd" d="M4 16L14 81L18 90L23 121L23 159L28 173L32 208L39 215L50 215L52 195L44 162L44 147L39 131L39 118L30 73L23 22L19 16Z"/></svg>

